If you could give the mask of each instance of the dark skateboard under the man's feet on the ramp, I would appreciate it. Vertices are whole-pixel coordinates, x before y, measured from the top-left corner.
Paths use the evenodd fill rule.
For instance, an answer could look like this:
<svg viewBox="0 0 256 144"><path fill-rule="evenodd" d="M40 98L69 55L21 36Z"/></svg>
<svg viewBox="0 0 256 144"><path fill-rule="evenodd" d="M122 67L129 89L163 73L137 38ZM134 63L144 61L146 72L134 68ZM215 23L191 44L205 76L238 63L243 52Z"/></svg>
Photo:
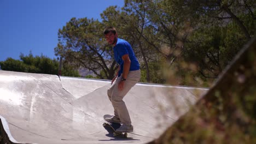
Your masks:
<svg viewBox="0 0 256 144"><path fill-rule="evenodd" d="M108 117L112 117L112 116L110 116L110 115L103 116L104 120L105 120L105 118L108 118ZM112 123L112 122L106 121L106 123L103 123L103 127L106 127L106 126L109 126L110 128L113 129L113 131L114 131L113 136L123 135L124 137L127 137L127 135L128 135L127 132L117 131L117 129L121 127L120 123Z"/></svg>

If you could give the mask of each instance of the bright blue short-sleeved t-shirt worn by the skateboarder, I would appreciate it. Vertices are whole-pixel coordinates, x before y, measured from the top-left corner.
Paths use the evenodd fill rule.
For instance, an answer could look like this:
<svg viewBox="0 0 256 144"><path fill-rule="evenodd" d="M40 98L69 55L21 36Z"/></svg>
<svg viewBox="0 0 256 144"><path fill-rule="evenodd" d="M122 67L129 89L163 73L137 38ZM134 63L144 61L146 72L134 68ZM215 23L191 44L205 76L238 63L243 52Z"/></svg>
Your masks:
<svg viewBox="0 0 256 144"><path fill-rule="evenodd" d="M113 49L115 61L117 61L117 63L120 65L118 76L120 76L123 73L124 61L122 59L122 56L126 54L129 55L129 58L131 60L130 71L139 70L139 62L132 50L131 45L126 40L118 38L117 44L114 46Z"/></svg>

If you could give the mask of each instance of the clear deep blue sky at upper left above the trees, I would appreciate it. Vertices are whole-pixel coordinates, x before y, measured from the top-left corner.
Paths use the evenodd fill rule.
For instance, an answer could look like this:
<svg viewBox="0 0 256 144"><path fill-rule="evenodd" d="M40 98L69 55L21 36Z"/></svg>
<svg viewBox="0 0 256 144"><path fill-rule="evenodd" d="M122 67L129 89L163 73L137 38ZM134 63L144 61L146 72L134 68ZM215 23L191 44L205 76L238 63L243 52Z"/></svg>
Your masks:
<svg viewBox="0 0 256 144"><path fill-rule="evenodd" d="M0 0L0 61L20 59L20 53L49 58L57 46L57 33L72 17L94 18L124 0Z"/></svg>

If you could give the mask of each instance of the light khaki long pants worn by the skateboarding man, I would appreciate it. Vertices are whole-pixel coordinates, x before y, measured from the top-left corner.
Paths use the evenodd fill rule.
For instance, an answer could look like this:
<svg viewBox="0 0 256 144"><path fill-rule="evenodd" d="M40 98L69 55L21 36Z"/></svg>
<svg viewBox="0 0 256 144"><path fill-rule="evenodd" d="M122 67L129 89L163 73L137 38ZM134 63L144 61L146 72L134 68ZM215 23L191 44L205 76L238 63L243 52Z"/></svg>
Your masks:
<svg viewBox="0 0 256 144"><path fill-rule="evenodd" d="M114 80L108 89L108 98L114 107L114 115L120 118L120 121L123 124L131 125L131 118L123 98L130 91L130 89L136 85L139 79L141 79L141 70L129 71L122 91L118 89L118 83L121 81L121 78L122 74Z"/></svg>

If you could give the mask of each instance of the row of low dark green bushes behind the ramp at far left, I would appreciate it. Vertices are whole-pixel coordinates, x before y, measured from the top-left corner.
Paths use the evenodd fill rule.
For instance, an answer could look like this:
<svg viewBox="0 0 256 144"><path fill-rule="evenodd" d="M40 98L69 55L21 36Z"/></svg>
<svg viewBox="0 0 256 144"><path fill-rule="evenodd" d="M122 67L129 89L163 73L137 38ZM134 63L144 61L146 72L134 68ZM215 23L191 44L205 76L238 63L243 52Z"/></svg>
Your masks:
<svg viewBox="0 0 256 144"><path fill-rule="evenodd" d="M71 65L66 62L64 63L62 76L80 76L78 71L74 70ZM5 61L0 62L0 65L2 70L52 75L59 74L59 61L43 55L34 57L31 52L28 56L24 56L24 54L21 53L20 60L7 58Z"/></svg>

